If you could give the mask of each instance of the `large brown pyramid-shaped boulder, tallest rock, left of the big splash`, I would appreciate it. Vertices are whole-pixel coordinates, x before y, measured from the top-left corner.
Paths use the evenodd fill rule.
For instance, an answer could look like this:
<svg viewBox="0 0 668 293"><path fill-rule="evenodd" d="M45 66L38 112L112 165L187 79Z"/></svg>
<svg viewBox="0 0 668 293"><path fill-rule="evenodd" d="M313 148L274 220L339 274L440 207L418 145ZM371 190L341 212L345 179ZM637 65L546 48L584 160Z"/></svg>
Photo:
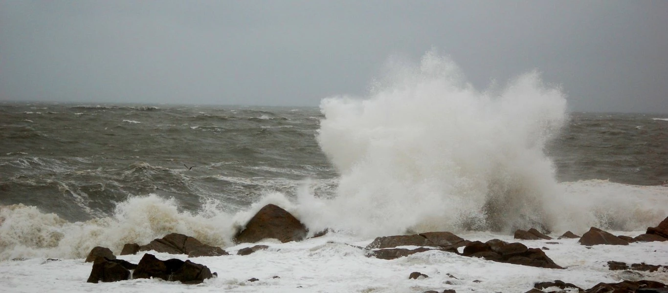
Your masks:
<svg viewBox="0 0 668 293"><path fill-rule="evenodd" d="M234 240L237 243L253 243L276 238L285 243L303 240L307 232L306 226L292 214L279 206L268 204L248 221L246 228L236 234Z"/></svg>

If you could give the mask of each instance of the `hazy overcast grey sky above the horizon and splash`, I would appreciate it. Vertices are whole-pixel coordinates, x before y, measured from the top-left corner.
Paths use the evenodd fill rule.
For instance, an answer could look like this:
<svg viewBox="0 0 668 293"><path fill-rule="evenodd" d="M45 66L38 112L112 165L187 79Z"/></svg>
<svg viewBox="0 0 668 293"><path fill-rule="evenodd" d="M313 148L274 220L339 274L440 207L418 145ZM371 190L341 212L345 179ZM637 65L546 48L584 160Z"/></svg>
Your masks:
<svg viewBox="0 0 668 293"><path fill-rule="evenodd" d="M0 0L0 100L318 105L432 47L479 88L668 113L668 1Z"/></svg>

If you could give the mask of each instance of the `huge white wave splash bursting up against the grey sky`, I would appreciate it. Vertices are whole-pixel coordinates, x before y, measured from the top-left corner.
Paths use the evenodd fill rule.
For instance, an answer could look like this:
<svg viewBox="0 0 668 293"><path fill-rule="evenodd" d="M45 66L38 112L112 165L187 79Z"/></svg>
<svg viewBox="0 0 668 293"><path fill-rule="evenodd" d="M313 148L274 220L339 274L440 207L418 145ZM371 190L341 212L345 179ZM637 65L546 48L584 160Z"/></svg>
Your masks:
<svg viewBox="0 0 668 293"><path fill-rule="evenodd" d="M567 117L558 87L534 71L479 91L433 50L387 72L364 99L321 102L317 139L341 174L329 222L368 236L554 227L544 149Z"/></svg>

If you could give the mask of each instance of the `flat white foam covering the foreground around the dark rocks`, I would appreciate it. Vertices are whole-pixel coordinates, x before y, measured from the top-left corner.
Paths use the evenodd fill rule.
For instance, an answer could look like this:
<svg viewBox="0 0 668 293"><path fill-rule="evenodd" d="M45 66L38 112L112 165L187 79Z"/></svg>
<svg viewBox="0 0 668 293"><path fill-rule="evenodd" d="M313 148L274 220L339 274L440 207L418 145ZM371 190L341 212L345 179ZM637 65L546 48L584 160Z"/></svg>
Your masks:
<svg viewBox="0 0 668 293"><path fill-rule="evenodd" d="M642 232L613 232L636 236ZM577 239L514 240L511 236L476 232L460 234L468 240L486 241L499 238L508 242L522 242L528 247L546 247L546 254L565 270L534 268L468 258L454 253L429 251L396 260L368 258L363 251L348 244L365 246L363 240L346 234L327 234L302 242L267 240L268 250L248 256L236 256L236 250L248 244L230 246L230 256L192 258L194 262L218 272L218 278L198 285L185 285L159 279L127 280L112 283L86 283L90 263L83 258L47 260L5 260L0 262L0 287L6 292L423 292L426 290L454 289L457 292L526 292L534 282L563 280L582 288L591 288L599 282L621 280L656 280L668 283L666 272L611 271L607 262L668 263L668 243L637 242L629 246L598 245L591 249L577 243ZM546 242L558 242L548 244ZM180 258L185 255L156 254L160 259ZM138 262L144 253L119 258ZM411 272L422 272L429 278L409 280ZM452 274L458 279L450 278ZM279 276L280 278L272 278ZM257 282L248 279L257 278ZM478 280L480 282L474 282ZM446 281L452 284L446 284Z"/></svg>

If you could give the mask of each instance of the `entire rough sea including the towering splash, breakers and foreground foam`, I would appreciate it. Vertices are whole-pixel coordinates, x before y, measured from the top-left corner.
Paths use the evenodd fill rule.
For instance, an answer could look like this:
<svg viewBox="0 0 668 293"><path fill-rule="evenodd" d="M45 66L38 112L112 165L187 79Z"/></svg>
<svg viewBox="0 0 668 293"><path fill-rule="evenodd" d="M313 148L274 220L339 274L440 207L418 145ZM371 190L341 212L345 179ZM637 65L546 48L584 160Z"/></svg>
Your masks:
<svg viewBox="0 0 668 293"><path fill-rule="evenodd" d="M667 264L663 242L587 250L576 240L524 241L549 247L566 270L437 252L377 260L355 248L430 231L517 241L520 228L556 237L595 226L636 236L668 216L668 113L568 111L562 89L536 72L485 90L458 72L427 55L367 95L319 107L1 102L0 287L525 292L548 279L589 288L640 278L607 271L608 260ZM234 254L248 246L234 234L270 203L309 234L329 233L198 258L218 278L196 286L86 283L94 246L118 254L177 232ZM408 280L414 270L432 277ZM665 272L644 278L668 281Z"/></svg>

